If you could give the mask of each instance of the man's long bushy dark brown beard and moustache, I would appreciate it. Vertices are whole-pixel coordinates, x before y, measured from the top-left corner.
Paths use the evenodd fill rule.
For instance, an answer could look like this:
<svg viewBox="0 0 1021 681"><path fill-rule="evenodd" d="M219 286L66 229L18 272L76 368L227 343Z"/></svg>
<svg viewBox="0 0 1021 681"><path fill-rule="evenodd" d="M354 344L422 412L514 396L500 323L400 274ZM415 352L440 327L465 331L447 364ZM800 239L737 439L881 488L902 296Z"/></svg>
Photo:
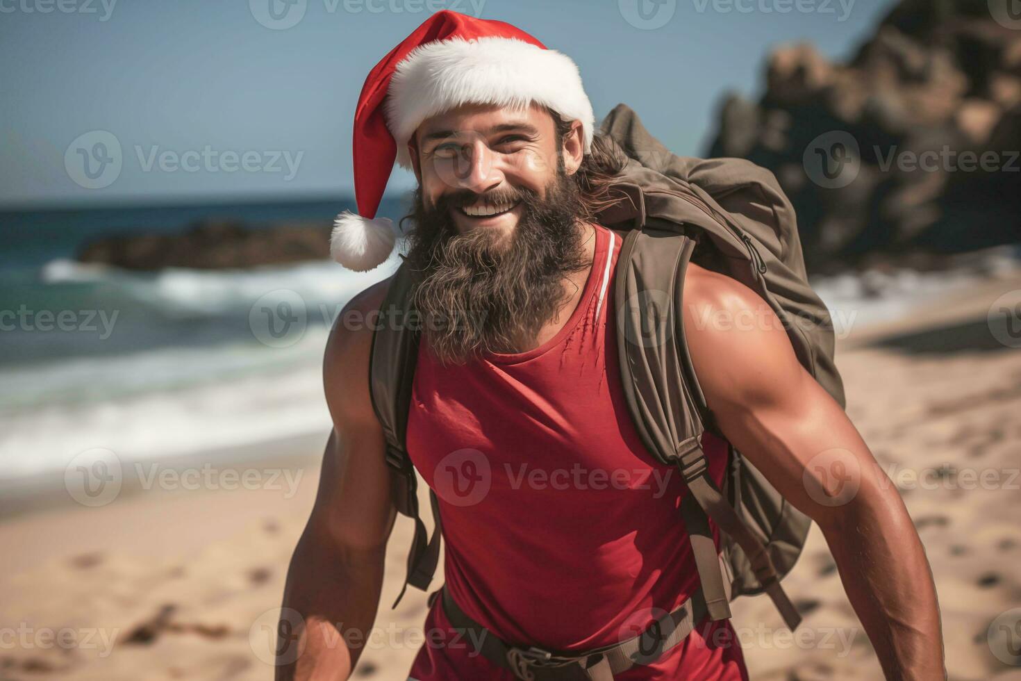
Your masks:
<svg viewBox="0 0 1021 681"><path fill-rule="evenodd" d="M416 273L411 303L424 322L424 340L444 364L533 344L571 299L567 277L590 264L581 194L563 166L544 198L518 188L485 196L494 204L521 201L522 216L509 236L487 228L457 232L451 209L474 203L475 192L445 194L429 207L421 191L415 195L405 256Z"/></svg>

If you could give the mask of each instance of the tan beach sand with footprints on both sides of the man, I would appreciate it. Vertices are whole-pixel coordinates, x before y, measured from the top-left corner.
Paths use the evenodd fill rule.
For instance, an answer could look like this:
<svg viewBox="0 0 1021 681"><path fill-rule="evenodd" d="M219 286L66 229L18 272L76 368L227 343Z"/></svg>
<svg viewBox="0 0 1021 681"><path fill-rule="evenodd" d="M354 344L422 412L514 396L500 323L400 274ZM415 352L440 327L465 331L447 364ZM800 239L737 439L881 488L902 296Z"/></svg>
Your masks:
<svg viewBox="0 0 1021 681"><path fill-rule="evenodd" d="M847 411L901 488L932 565L955 681L1021 679L1021 655L1009 658L1021 652L1010 620L1021 609L1021 350L986 324L1013 289L1021 279L987 281L838 346ZM235 467L286 470L291 486L135 490L98 507L61 489L47 508L5 506L0 680L273 678L268 632L320 447L279 445L286 457ZM406 678L421 643L426 594L409 589L390 610L410 533L398 518L378 632L353 678ZM734 603L752 679L882 678L818 529L784 583L805 613L796 636L765 596Z"/></svg>

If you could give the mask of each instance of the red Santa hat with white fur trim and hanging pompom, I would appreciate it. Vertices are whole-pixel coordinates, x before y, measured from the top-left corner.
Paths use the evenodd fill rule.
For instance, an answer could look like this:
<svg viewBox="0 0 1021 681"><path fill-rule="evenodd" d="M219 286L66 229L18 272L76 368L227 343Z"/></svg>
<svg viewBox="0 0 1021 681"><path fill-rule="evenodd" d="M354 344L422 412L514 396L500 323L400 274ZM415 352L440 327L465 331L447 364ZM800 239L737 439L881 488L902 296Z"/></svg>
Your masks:
<svg viewBox="0 0 1021 681"><path fill-rule="evenodd" d="M595 119L578 67L566 55L503 21L436 12L369 74L354 110L354 197L358 212L334 223L331 251L366 272L389 257L393 223L376 218L394 161L410 167L407 142L426 118L461 104L547 106L579 120L584 149Z"/></svg>

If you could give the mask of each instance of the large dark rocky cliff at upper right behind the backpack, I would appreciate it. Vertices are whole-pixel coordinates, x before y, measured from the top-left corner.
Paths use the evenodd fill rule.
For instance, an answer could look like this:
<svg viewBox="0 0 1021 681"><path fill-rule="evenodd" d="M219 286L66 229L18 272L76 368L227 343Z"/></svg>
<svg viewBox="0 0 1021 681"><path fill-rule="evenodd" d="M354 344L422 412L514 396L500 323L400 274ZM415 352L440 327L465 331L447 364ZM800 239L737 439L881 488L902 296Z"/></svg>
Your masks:
<svg viewBox="0 0 1021 681"><path fill-rule="evenodd" d="M781 47L759 103L726 97L709 155L773 171L810 270L1021 242L1021 18L999 18L903 0L847 64Z"/></svg>

